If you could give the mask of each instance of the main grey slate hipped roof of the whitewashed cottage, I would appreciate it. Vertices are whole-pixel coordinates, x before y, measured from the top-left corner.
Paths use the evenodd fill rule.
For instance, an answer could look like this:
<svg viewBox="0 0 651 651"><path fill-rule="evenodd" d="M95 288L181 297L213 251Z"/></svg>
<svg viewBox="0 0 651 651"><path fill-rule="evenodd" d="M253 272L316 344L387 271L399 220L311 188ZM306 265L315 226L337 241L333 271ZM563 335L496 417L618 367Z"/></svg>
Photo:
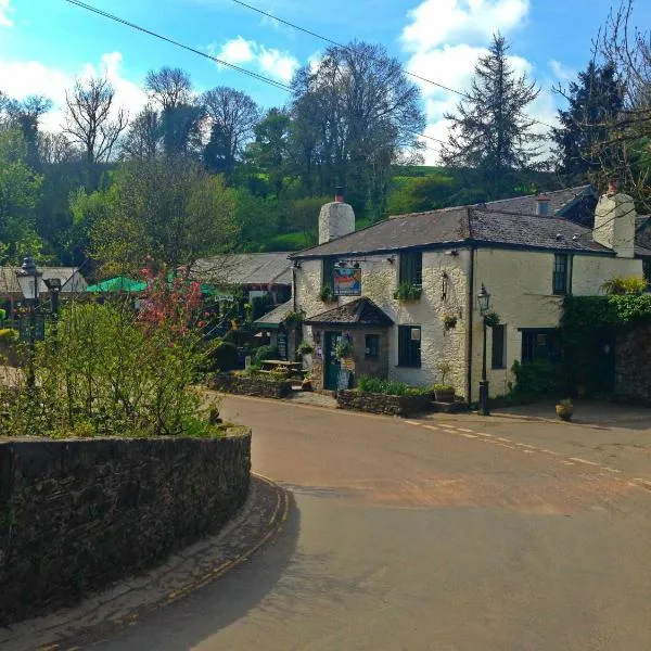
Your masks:
<svg viewBox="0 0 651 651"><path fill-rule="evenodd" d="M493 206L465 206L385 219L292 257L390 253L465 243L612 254L610 248L592 241L590 229L566 219L497 210Z"/></svg>

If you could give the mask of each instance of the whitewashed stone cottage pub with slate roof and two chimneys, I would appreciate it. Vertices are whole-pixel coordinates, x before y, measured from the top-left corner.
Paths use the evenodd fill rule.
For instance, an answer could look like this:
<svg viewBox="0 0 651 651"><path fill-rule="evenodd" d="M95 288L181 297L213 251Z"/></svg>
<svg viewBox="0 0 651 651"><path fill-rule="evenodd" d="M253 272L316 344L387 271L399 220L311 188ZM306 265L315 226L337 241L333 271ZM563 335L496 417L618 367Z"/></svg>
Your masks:
<svg viewBox="0 0 651 651"><path fill-rule="evenodd" d="M293 307L306 314L304 334L315 348L314 385L337 388L336 348L345 342L343 363L355 374L414 386L445 374L459 396L476 400L482 285L500 317L488 329L492 395L508 392L515 360L558 357L564 295L598 294L615 276L641 277L640 256L651 255L636 247L626 194L599 199L593 228L566 217L586 188L400 215L359 231L350 206L324 205L319 245L291 256Z"/></svg>

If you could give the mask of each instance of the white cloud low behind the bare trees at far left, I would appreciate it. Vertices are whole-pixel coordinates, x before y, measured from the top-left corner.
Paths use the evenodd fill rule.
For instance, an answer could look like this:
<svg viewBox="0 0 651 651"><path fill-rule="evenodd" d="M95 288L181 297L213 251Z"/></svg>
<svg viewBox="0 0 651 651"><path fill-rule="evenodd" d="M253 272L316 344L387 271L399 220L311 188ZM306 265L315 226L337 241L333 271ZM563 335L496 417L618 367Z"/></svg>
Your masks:
<svg viewBox="0 0 651 651"><path fill-rule="evenodd" d="M79 69L63 71L39 61L0 59L0 89L16 100L30 94L50 98L53 107L43 116L42 128L59 131L63 124L65 91L73 87L75 78L106 74L115 88L115 107L126 108L132 117L145 104L146 97L141 88L123 77L122 60L120 52L110 52L97 64L86 63Z"/></svg>

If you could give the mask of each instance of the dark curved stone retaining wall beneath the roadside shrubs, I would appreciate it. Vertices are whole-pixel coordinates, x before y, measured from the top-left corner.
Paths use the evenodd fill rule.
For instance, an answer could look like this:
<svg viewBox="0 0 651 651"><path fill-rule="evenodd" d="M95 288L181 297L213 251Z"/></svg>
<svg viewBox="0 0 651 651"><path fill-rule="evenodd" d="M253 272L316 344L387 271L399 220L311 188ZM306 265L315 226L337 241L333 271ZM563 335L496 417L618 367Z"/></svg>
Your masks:
<svg viewBox="0 0 651 651"><path fill-rule="evenodd" d="M244 502L251 433L0 443L0 626L214 534Z"/></svg>

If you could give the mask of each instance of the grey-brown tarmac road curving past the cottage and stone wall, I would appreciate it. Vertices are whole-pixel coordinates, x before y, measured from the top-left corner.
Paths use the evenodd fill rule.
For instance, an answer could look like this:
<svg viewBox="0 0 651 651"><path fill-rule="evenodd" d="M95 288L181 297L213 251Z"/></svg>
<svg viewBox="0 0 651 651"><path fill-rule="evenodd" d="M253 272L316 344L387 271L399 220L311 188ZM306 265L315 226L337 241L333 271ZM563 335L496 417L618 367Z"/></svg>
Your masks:
<svg viewBox="0 0 651 651"><path fill-rule="evenodd" d="M589 430L554 430L554 449L550 427L571 425L234 397L222 412L253 426L254 469L291 489L285 528L90 648L651 649L651 486L626 459L562 448Z"/></svg>

